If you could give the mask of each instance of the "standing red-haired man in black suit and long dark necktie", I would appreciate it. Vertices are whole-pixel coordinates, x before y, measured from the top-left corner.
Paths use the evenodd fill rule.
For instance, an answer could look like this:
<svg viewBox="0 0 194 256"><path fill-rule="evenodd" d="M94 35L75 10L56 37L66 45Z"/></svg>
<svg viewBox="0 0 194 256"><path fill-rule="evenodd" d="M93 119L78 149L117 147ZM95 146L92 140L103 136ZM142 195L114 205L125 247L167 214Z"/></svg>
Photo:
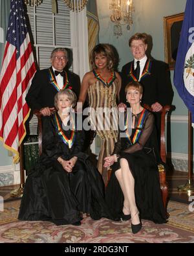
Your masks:
<svg viewBox="0 0 194 256"><path fill-rule="evenodd" d="M134 60L122 67L120 102L126 104L125 86L135 80L144 87L142 104L148 104L154 112L158 112L162 106L170 105L173 100L169 66L165 62L147 58L147 35L144 33L136 33L132 36L129 39L129 47ZM120 104L121 106L125 105ZM160 143L160 114L156 113L155 117L158 143Z"/></svg>

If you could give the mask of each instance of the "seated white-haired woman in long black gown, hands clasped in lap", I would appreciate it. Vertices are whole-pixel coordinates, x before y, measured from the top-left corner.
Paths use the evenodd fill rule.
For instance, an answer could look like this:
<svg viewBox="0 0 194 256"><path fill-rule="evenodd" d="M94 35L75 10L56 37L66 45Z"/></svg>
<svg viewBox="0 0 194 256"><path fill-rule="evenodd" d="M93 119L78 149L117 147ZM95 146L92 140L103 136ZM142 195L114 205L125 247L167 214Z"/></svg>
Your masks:
<svg viewBox="0 0 194 256"><path fill-rule="evenodd" d="M81 152L84 133L77 130L72 110L76 95L70 89L55 96L57 112L47 117L43 154L25 184L19 220L45 220L56 225L80 225L81 213L107 216L103 181Z"/></svg>

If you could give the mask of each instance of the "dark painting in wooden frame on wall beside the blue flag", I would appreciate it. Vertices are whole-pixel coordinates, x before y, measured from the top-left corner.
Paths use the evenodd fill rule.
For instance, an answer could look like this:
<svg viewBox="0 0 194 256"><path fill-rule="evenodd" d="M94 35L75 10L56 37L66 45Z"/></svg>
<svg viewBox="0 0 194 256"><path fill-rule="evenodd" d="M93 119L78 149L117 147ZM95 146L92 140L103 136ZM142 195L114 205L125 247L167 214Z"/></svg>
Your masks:
<svg viewBox="0 0 194 256"><path fill-rule="evenodd" d="M184 12L164 17L164 53L170 69L175 68Z"/></svg>

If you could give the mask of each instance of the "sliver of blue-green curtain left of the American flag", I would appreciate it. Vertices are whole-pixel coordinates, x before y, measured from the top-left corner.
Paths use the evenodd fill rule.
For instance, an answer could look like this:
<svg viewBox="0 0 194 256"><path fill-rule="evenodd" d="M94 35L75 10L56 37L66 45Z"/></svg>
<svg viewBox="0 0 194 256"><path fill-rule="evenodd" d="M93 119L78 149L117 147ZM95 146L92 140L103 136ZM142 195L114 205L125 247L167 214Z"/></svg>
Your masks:
<svg viewBox="0 0 194 256"><path fill-rule="evenodd" d="M0 0L0 27L4 30L4 43L0 43L0 71L5 49L6 30L10 15L10 2L10 0Z"/></svg>

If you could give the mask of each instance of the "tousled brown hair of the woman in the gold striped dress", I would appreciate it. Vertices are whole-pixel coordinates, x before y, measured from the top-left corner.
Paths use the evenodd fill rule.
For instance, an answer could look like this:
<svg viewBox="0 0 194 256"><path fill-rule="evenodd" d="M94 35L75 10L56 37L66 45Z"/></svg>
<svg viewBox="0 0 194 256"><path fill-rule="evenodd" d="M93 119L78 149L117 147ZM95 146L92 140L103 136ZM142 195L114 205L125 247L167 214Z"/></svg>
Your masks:
<svg viewBox="0 0 194 256"><path fill-rule="evenodd" d="M97 54L102 54L107 57L107 68L109 71L114 70L114 66L116 65L116 58L114 57L113 47L108 43L100 43L96 45L94 49L91 51L90 62L92 69L96 69L95 65L95 57Z"/></svg>

